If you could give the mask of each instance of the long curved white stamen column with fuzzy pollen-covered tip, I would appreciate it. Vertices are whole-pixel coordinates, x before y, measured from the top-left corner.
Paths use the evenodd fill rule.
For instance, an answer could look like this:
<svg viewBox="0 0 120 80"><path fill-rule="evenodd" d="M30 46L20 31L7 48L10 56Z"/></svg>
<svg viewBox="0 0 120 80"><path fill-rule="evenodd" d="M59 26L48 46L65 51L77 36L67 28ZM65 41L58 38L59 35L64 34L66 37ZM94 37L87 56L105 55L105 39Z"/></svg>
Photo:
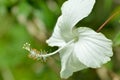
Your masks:
<svg viewBox="0 0 120 80"><path fill-rule="evenodd" d="M30 47L30 44L28 44L28 43L25 43L23 45L23 48L30 52L30 54L28 55L29 58L33 58L33 59L36 59L36 60L40 60L42 62L46 62L46 58L47 57L52 56L52 55L58 53L60 50L64 49L66 46L68 46L69 44L73 43L74 41L75 41L75 39L69 41L66 45L60 47L58 50L56 50L56 51L54 51L52 53L49 53L49 54L46 54L45 51L43 52L43 51L38 51L36 49L32 49Z"/></svg>

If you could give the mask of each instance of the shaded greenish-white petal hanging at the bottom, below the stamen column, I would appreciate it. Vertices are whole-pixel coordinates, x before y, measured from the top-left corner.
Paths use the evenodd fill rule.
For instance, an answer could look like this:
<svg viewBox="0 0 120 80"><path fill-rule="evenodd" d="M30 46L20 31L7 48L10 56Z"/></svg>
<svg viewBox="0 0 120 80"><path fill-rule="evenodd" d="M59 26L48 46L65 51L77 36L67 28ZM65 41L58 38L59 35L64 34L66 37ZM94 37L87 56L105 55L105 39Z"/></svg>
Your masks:
<svg viewBox="0 0 120 80"><path fill-rule="evenodd" d="M82 64L79 59L76 57L75 53L73 53L74 44L71 44L60 51L60 58L61 58L61 78L68 78L70 77L73 72L82 70L87 68L84 64Z"/></svg>

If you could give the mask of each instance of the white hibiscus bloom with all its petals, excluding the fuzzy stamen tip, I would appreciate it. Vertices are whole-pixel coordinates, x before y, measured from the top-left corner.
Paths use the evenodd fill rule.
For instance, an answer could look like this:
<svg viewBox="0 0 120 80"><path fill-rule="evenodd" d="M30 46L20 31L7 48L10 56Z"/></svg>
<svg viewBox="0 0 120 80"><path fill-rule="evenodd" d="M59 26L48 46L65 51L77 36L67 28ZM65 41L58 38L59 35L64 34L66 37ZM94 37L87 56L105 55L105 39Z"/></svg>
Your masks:
<svg viewBox="0 0 120 80"><path fill-rule="evenodd" d="M73 72L84 68L98 68L113 55L112 41L102 33L87 27L75 28L80 20L90 14L94 3L95 0L68 0L61 8L62 15L47 40L50 46L59 47L56 52L59 51L61 58L61 78L68 78Z"/></svg>

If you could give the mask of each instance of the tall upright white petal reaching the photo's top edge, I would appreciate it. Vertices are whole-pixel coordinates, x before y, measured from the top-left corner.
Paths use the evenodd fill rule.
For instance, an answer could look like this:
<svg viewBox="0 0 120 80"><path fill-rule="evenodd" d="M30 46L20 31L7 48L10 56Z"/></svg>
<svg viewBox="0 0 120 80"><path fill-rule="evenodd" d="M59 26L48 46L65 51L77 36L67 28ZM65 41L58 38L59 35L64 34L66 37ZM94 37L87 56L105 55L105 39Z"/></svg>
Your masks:
<svg viewBox="0 0 120 80"><path fill-rule="evenodd" d="M87 17L94 6L95 0L68 0L62 10L62 21L60 21L61 36L65 41L70 41L73 27L83 18Z"/></svg>

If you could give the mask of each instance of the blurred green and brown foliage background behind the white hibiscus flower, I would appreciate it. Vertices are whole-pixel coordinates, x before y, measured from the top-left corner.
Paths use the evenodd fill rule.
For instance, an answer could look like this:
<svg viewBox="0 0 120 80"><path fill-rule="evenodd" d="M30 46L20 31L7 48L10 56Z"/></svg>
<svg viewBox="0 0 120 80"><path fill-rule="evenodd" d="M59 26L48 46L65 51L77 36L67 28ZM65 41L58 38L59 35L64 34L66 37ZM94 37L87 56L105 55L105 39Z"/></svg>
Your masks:
<svg viewBox="0 0 120 80"><path fill-rule="evenodd" d="M41 63L28 58L22 49L26 42L38 50L57 49L45 40L53 32L64 1L0 0L0 80L64 80L59 76L59 54ZM92 13L77 25L97 30L116 11L120 11L120 0L96 0ZM99 69L76 72L67 80L120 80L120 14L101 32L113 40L112 60Z"/></svg>

